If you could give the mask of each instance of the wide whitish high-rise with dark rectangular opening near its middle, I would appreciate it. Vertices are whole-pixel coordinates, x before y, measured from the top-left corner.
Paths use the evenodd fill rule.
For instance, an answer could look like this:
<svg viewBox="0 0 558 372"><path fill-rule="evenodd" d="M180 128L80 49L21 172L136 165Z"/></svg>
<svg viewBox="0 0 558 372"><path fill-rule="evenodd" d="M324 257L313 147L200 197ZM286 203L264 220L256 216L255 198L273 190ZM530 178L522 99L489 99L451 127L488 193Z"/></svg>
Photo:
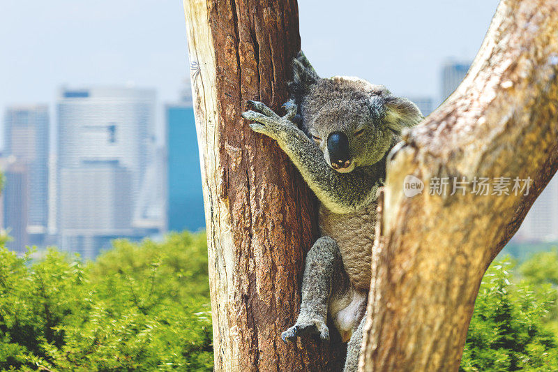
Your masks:
<svg viewBox="0 0 558 372"><path fill-rule="evenodd" d="M151 89L62 89L58 104L57 230L63 250L93 257L133 226L154 133Z"/></svg>

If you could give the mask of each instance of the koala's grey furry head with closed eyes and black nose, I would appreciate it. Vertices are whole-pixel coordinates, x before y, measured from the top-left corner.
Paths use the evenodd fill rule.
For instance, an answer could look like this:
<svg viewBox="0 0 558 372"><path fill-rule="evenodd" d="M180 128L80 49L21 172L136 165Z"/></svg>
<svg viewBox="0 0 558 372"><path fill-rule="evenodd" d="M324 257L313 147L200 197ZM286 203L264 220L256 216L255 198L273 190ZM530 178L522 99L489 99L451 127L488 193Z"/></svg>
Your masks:
<svg viewBox="0 0 558 372"><path fill-rule="evenodd" d="M392 96L382 85L356 77L321 79L303 67L306 70L297 74L295 64L290 85L302 128L338 172L377 163L397 142L402 128L423 118L414 103Z"/></svg>

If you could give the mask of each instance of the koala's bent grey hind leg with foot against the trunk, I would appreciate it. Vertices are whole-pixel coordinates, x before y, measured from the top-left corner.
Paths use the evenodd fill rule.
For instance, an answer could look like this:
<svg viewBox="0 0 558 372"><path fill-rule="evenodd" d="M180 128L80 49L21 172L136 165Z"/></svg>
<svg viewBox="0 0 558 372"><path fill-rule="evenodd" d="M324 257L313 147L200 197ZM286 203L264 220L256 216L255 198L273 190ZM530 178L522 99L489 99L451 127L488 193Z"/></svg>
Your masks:
<svg viewBox="0 0 558 372"><path fill-rule="evenodd" d="M339 247L331 237L321 237L306 255L302 279L302 304L296 324L282 333L283 341L292 341L305 333L319 334L329 340L327 308L334 271L342 267Z"/></svg>

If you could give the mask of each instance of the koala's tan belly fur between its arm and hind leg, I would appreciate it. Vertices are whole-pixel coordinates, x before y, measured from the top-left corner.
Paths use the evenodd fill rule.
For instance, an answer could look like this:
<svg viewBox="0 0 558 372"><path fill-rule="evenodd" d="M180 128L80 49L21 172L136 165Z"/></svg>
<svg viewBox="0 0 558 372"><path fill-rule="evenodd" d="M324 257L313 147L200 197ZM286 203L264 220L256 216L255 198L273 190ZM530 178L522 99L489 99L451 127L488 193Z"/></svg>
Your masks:
<svg viewBox="0 0 558 372"><path fill-rule="evenodd" d="M337 242L345 271L359 291L370 288L376 208L377 201L374 201L368 207L347 214L335 214L323 206L319 211L322 235Z"/></svg>

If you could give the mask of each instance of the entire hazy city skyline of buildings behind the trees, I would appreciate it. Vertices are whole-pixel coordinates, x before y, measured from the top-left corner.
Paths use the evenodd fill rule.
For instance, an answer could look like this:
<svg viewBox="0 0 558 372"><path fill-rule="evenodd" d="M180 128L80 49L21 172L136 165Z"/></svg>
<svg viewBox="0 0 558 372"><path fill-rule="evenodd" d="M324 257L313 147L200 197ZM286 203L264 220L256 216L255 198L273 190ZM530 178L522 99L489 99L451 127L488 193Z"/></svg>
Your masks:
<svg viewBox="0 0 558 372"><path fill-rule="evenodd" d="M439 101L458 87L469 66L467 61L449 59L440 66ZM155 89L63 87L59 89L54 123L49 122L50 110L45 105L8 107L3 121L7 146L0 161L6 174L1 210L4 226L14 223L9 227L15 241L41 245L40 239L33 238L33 232L40 232L44 238L48 231L50 239L45 242L78 252L83 258L94 258L119 237L137 240L166 232L167 228L203 228L199 154L189 85L185 84L176 96L173 103L165 104L167 137L163 146L154 140ZM425 116L437 106L434 97L408 98ZM56 147L45 135L50 124L56 126ZM41 140L43 145L38 143ZM45 147L49 142L50 146ZM37 173L33 170L36 154L41 154L43 168L50 168L50 175L41 175L43 181L47 178L50 183L50 189L40 191L40 195L49 195L49 213L43 215L42 229L36 226L40 223L31 223L32 200L36 198L25 198L26 193L31 195L30 180L36 177L33 172ZM20 213L10 214L10 210ZM527 214L515 239L558 239L557 216L555 177ZM29 223L24 222L27 220ZM17 251L22 251L21 246Z"/></svg>

